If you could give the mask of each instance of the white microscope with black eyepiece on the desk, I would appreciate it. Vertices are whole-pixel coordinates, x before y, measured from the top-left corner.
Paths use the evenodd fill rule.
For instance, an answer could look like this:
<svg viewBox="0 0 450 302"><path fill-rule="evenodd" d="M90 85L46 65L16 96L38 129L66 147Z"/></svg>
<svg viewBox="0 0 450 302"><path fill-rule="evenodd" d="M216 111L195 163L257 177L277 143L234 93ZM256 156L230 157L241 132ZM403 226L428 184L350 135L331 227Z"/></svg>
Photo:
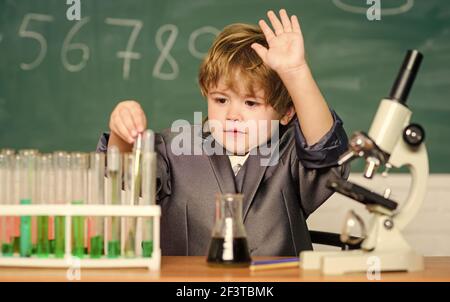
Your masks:
<svg viewBox="0 0 450 302"><path fill-rule="evenodd" d="M336 252L305 251L300 253L304 271L320 270L325 275L386 271L423 270L423 257L417 254L402 236L402 230L414 218L425 198L428 180L428 155L423 128L410 123L411 110L406 100L412 87L422 54L409 50L405 56L389 98L380 102L369 133L355 132L349 149L338 164L364 158L364 177L372 179L381 167L406 166L411 173L411 185L406 200L399 207L389 199L389 192L380 195L344 179L328 181L334 191L363 203L371 216L366 228L362 219L352 211L345 221L341 241L357 244L353 250ZM360 238L352 237L349 228L360 224Z"/></svg>

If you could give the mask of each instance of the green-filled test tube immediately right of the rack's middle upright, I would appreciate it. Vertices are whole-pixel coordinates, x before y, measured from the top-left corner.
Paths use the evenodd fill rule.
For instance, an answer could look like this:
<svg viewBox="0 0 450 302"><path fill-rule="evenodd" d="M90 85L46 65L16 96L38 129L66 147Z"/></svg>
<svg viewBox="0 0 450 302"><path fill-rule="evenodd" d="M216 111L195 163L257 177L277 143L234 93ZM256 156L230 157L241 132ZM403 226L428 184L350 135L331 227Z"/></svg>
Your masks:
<svg viewBox="0 0 450 302"><path fill-rule="evenodd" d="M71 154L72 204L81 205L87 194L88 156L85 153ZM85 252L84 217L74 216L72 219L72 254L83 258Z"/></svg>

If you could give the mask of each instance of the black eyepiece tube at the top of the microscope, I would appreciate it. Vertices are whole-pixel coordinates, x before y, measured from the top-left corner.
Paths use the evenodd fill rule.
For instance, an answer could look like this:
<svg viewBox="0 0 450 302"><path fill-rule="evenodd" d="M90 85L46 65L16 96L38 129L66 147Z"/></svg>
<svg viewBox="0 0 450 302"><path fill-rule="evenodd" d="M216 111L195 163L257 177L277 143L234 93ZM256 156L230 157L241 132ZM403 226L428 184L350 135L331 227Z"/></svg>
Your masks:
<svg viewBox="0 0 450 302"><path fill-rule="evenodd" d="M397 75L394 86L392 86L389 98L393 101L405 104L411 90L414 79L422 62L423 55L417 50L408 50L402 67Z"/></svg>

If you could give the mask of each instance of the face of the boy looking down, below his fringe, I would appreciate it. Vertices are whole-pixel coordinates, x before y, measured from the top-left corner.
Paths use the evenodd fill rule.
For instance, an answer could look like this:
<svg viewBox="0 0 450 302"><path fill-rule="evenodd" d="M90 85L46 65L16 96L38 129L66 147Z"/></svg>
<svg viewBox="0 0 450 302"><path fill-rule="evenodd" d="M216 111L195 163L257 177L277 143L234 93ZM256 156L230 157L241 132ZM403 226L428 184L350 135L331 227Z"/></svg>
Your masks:
<svg viewBox="0 0 450 302"><path fill-rule="evenodd" d="M239 79L236 74L234 90L223 79L209 89L208 122L215 140L228 151L243 155L267 142L279 126L280 115L266 102L262 89L249 95Z"/></svg>

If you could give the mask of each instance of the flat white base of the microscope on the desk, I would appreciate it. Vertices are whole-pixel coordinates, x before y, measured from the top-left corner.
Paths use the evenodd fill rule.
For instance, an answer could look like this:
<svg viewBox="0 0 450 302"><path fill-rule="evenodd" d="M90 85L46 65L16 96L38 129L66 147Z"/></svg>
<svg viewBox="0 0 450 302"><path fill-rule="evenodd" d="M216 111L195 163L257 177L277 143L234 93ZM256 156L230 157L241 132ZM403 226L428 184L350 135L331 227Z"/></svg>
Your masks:
<svg viewBox="0 0 450 302"><path fill-rule="evenodd" d="M414 251L373 251L363 250L342 252L306 251L300 254L303 270L320 270L324 275L345 273L367 273L387 271L423 270L423 257Z"/></svg>

